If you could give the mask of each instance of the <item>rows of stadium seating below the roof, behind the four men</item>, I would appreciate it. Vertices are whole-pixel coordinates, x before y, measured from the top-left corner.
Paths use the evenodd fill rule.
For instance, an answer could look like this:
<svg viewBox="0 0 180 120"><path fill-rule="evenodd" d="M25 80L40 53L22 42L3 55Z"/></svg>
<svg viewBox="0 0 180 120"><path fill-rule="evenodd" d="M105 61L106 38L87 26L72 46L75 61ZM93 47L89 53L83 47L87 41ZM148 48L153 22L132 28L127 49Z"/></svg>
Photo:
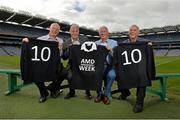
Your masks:
<svg viewBox="0 0 180 120"><path fill-rule="evenodd" d="M22 26L18 24L0 22L0 55L20 55L21 40L24 37L39 37L48 34L45 28ZM59 36L64 41L70 38L68 32L60 32ZM81 35L81 37L84 37ZM98 40L98 36L87 36L89 40ZM180 33L164 33L141 36L153 42L156 56L179 56ZM110 36L111 38L111 36ZM122 42L127 37L114 37L112 39ZM2 47L3 46L3 47ZM171 49L173 48L173 49ZM176 49L175 49L176 48Z"/></svg>

